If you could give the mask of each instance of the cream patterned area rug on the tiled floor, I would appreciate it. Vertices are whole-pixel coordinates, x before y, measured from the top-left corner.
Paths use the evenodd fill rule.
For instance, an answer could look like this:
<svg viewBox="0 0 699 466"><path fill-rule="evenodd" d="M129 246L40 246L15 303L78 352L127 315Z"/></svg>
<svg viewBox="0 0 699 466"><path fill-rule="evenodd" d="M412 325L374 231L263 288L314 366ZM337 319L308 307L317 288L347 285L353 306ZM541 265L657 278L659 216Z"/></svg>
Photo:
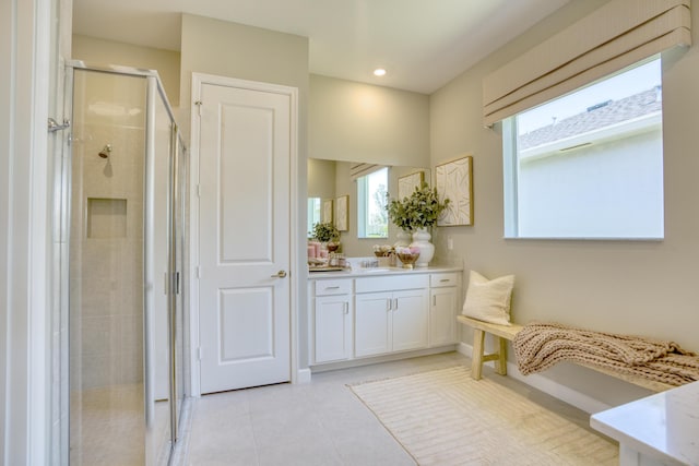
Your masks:
<svg viewBox="0 0 699 466"><path fill-rule="evenodd" d="M419 465L617 465L618 446L465 367L351 390Z"/></svg>

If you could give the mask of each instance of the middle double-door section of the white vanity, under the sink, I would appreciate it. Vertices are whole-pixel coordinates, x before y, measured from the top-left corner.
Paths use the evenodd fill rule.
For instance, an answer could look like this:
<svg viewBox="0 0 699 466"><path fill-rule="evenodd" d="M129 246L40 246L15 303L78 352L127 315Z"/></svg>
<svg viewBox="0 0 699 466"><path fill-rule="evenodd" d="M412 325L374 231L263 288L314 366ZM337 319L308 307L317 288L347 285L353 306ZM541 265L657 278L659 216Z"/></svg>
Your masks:
<svg viewBox="0 0 699 466"><path fill-rule="evenodd" d="M428 345L428 275L355 280L355 357Z"/></svg>

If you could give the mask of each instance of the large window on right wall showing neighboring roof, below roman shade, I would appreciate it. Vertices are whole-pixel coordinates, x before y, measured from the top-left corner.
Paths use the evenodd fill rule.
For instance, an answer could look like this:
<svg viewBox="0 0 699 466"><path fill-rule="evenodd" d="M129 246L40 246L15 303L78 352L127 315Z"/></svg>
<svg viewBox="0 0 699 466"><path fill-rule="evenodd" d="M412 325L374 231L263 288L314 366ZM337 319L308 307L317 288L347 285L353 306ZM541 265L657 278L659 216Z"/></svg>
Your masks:
<svg viewBox="0 0 699 466"><path fill-rule="evenodd" d="M661 61L502 122L509 238L663 237Z"/></svg>

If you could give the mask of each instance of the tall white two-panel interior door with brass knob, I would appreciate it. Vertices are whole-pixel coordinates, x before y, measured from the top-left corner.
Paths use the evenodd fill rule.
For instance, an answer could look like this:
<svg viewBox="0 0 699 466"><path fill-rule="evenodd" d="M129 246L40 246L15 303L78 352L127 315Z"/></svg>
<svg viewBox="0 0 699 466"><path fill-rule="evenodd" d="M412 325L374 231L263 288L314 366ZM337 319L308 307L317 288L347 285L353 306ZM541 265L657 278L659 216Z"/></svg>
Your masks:
<svg viewBox="0 0 699 466"><path fill-rule="evenodd" d="M291 380L291 96L200 93L201 393Z"/></svg>

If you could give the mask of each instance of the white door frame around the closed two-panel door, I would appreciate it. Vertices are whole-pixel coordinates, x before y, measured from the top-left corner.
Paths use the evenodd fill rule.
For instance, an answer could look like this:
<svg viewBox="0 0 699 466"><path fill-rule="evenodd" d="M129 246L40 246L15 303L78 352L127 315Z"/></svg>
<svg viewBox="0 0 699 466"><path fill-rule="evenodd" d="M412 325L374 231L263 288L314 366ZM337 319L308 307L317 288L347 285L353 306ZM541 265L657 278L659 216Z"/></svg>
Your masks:
<svg viewBox="0 0 699 466"><path fill-rule="evenodd" d="M298 253L299 235L298 235L298 88L284 86L280 84L262 83L257 81L240 80L237 77L218 76L206 73L192 73L191 88L191 136L190 136L190 360L191 360L191 396L201 396L201 363L200 363L200 334L199 334L199 105L201 100L202 86L206 84L221 85L228 87L238 87L250 91L261 91L286 95L291 103L291 167L289 167L289 357L291 357L291 379L292 383L300 382L299 377L299 348L298 348L298 294L301 264ZM304 263L305 264L305 263Z"/></svg>

